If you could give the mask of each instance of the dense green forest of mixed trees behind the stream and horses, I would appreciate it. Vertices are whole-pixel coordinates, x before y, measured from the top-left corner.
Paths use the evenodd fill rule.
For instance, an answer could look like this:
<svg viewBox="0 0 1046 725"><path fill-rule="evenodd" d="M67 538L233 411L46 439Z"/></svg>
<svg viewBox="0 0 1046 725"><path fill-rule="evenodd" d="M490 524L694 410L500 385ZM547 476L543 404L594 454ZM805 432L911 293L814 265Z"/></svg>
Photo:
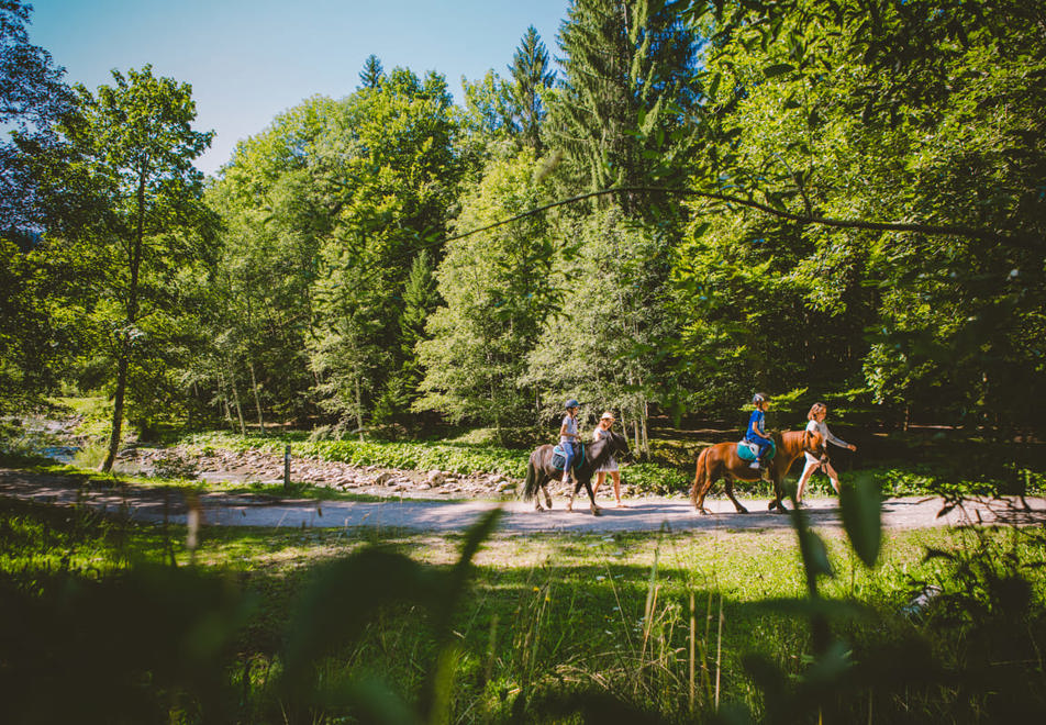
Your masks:
<svg viewBox="0 0 1046 725"><path fill-rule="evenodd" d="M465 81L371 56L210 178L191 88L67 86L0 2L0 406L409 437L566 397L1028 435L1046 5L576 0ZM497 62L492 58L491 62Z"/></svg>

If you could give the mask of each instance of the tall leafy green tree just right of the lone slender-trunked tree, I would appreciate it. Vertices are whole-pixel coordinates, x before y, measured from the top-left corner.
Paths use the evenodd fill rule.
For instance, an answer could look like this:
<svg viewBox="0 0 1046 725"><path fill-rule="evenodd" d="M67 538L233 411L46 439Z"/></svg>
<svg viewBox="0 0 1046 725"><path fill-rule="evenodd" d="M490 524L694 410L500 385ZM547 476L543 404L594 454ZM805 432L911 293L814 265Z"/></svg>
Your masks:
<svg viewBox="0 0 1046 725"><path fill-rule="evenodd" d="M330 157L348 134L338 101L307 99L237 144L208 190L223 221L209 317L216 349L197 376L224 391L219 399L251 390L258 419L316 412L307 352L313 286L341 192Z"/></svg>

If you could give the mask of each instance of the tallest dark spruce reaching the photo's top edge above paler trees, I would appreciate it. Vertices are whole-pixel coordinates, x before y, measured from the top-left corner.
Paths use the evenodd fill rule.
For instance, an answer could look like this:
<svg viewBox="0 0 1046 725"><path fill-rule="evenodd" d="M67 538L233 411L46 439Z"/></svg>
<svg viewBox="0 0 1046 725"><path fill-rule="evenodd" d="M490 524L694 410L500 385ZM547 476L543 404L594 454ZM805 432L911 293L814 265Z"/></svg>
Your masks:
<svg viewBox="0 0 1046 725"><path fill-rule="evenodd" d="M576 0L559 45L565 76L549 97L549 145L574 161L590 190L671 178L661 157L690 101L696 40L679 3ZM636 217L649 200L614 197ZM611 199L604 198L604 203Z"/></svg>

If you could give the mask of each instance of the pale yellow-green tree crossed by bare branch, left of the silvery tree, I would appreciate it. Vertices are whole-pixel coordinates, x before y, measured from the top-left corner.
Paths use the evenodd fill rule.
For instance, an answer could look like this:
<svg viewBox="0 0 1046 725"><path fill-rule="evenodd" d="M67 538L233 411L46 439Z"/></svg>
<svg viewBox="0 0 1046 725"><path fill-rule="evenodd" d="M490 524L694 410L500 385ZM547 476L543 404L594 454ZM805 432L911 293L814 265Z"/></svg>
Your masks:
<svg viewBox="0 0 1046 725"><path fill-rule="evenodd" d="M535 168L528 149L492 159L468 193L457 228L536 207L543 185L535 182ZM559 303L556 246L537 216L448 243L436 270L445 304L430 316L429 338L419 344L425 394L415 410L499 433L536 422L533 390L524 381L526 355Z"/></svg>

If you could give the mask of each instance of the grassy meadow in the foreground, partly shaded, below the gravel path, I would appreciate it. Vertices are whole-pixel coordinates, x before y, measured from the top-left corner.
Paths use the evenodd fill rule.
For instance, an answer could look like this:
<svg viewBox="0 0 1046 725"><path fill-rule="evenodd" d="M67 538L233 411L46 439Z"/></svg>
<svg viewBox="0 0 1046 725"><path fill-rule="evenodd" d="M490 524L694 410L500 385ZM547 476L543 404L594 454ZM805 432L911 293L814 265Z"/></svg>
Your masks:
<svg viewBox="0 0 1046 725"><path fill-rule="evenodd" d="M1044 678L1042 531L891 531L873 569L819 534L834 655L811 636L788 531L188 532L3 500L3 707L8 722L470 723L993 722L1043 706L1027 690ZM942 593L905 616L927 583ZM1005 674L1005 696L971 672Z"/></svg>

